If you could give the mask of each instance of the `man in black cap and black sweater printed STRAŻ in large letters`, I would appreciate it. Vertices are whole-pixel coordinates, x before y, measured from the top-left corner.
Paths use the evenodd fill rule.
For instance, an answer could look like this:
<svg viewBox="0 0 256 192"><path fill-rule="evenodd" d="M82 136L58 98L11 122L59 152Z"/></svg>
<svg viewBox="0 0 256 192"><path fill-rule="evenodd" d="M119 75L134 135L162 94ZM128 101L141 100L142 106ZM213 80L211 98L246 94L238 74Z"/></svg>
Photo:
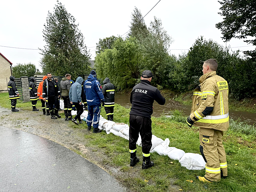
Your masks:
<svg viewBox="0 0 256 192"><path fill-rule="evenodd" d="M139 162L139 158L136 157L136 142L140 134L143 154L142 169L148 169L154 165L153 161L150 161L150 149L152 147L151 115L153 113L153 103L154 100L156 100L158 104L164 105L165 98L156 87L151 85L151 71L143 71L140 78L140 83L134 86L130 97L132 104L129 120L130 166L133 167Z"/></svg>

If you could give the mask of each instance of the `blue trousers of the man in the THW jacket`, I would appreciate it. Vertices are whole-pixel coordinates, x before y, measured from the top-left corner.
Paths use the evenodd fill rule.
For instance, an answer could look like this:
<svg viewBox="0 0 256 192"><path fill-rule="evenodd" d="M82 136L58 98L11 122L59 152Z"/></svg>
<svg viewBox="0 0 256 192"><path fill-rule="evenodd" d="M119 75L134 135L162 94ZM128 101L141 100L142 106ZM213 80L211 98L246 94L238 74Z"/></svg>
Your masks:
<svg viewBox="0 0 256 192"><path fill-rule="evenodd" d="M98 128L99 126L99 116L100 116L101 106L89 106L88 105L88 116L86 122L88 126L93 124L93 128Z"/></svg>

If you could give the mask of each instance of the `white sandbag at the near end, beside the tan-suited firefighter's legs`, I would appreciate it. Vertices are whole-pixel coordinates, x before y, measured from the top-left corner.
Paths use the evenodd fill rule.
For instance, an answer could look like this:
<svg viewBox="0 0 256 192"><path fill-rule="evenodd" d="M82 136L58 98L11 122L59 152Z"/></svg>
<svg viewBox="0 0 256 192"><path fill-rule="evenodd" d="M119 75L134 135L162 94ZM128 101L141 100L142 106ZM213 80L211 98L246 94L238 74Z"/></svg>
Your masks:
<svg viewBox="0 0 256 192"><path fill-rule="evenodd" d="M185 153L179 162L182 167L189 170L202 170L205 168L204 158L198 153Z"/></svg>

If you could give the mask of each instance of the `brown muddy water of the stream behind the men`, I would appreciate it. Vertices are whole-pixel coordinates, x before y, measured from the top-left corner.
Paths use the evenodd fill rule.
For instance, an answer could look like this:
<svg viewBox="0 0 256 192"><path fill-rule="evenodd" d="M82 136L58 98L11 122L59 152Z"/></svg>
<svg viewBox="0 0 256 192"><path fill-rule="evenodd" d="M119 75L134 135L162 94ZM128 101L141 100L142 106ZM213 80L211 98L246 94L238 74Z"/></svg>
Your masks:
<svg viewBox="0 0 256 192"><path fill-rule="evenodd" d="M115 103L120 104L126 108L130 108L130 95L129 94L120 94L116 93L115 95ZM189 105L179 105L177 102L173 102L171 100L166 100L164 105L159 105L154 102L153 104L153 114L154 117L160 117L161 115L168 115L170 110L178 109L184 112L185 115L190 114L191 106ZM256 122L256 113L250 113L245 111L235 111L229 110L230 118L236 120L240 118L242 121L248 122L248 124L253 125Z"/></svg>

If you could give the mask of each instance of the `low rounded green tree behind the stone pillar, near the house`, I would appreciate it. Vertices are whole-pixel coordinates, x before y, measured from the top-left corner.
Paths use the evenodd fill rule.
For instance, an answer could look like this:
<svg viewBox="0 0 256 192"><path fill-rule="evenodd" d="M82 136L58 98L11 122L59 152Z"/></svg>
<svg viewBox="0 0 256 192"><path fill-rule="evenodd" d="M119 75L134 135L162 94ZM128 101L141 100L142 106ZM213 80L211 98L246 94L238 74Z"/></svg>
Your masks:
<svg viewBox="0 0 256 192"><path fill-rule="evenodd" d="M22 76L31 77L34 76L34 74L41 74L41 72L35 67L33 63L18 63L17 65L12 67L12 75L15 78L19 78Z"/></svg>

